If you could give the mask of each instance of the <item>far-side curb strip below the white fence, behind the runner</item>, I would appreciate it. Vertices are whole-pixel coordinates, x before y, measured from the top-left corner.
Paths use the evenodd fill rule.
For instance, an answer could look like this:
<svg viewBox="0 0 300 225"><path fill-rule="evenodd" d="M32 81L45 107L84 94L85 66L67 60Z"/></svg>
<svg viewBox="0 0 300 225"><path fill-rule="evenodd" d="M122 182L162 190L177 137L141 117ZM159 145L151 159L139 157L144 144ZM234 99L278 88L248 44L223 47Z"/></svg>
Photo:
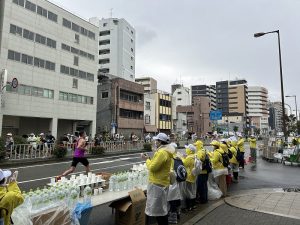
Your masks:
<svg viewBox="0 0 300 225"><path fill-rule="evenodd" d="M102 155L87 155L88 159L93 159L93 158L105 158L107 156L120 156L120 155L127 155L127 154L132 154L132 153L142 153L145 152L144 150L132 150L130 152L128 151L122 151L122 152L112 152L112 153L105 153ZM20 159L18 161L13 160L13 161L3 161L1 162L1 168L9 168L11 166L14 167L19 167L19 166L27 166L27 165L40 165L40 164L45 164L45 163L57 163L57 162L66 162L72 160L72 156L66 156L63 159L56 159L56 158L48 158L48 159L43 159L43 158L38 158L38 159Z"/></svg>

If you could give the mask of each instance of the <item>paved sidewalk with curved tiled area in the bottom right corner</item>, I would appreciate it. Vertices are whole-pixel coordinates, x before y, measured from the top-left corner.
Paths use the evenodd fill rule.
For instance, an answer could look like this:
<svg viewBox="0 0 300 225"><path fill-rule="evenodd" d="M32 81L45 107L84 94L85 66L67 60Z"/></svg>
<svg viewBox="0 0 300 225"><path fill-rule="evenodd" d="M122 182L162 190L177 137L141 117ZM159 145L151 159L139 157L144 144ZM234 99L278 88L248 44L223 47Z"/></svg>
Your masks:
<svg viewBox="0 0 300 225"><path fill-rule="evenodd" d="M183 225L300 225L300 193L254 189L231 193Z"/></svg>

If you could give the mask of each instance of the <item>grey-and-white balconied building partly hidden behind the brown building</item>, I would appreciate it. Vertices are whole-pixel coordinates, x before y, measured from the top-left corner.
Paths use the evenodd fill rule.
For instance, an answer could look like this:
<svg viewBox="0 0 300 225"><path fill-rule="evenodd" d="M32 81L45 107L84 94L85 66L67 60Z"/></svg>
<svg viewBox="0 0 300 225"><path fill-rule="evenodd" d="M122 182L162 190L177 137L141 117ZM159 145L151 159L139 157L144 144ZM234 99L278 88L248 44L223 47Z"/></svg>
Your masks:
<svg viewBox="0 0 300 225"><path fill-rule="evenodd" d="M216 110L216 86L215 85L193 85L192 99L195 96L206 96L210 98L211 109Z"/></svg>

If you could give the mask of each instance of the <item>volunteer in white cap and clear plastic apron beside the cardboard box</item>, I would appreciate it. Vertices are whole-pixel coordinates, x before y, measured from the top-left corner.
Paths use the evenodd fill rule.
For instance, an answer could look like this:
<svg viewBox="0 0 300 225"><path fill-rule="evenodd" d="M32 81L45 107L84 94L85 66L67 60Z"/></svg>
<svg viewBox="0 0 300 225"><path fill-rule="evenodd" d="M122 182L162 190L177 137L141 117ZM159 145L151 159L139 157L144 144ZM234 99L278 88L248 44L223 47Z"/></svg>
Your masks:
<svg viewBox="0 0 300 225"><path fill-rule="evenodd" d="M150 159L142 154L149 170L147 201L145 213L155 217L158 225L168 225L168 189L170 185L170 168L175 148L168 146L169 138L164 133L153 137L158 149Z"/></svg>

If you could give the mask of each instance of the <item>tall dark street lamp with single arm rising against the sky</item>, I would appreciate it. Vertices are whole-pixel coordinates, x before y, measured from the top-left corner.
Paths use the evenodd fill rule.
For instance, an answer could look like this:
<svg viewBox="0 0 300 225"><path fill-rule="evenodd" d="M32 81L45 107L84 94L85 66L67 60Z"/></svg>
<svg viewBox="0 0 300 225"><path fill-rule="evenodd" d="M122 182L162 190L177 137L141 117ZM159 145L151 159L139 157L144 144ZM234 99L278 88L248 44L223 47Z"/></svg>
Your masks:
<svg viewBox="0 0 300 225"><path fill-rule="evenodd" d="M283 78L282 78L282 63L281 63L281 48L280 48L280 35L279 35L279 30L274 30L270 32L260 32L260 33L255 33L254 37L261 37L265 34L271 34L271 33L277 33L277 38L278 38L278 53L279 53L279 67L280 67L280 84L281 84L281 105L282 105L282 124L283 124L283 134L285 140L287 140L287 130L286 130L286 121L285 121L285 108L284 108L284 91L283 91Z"/></svg>

